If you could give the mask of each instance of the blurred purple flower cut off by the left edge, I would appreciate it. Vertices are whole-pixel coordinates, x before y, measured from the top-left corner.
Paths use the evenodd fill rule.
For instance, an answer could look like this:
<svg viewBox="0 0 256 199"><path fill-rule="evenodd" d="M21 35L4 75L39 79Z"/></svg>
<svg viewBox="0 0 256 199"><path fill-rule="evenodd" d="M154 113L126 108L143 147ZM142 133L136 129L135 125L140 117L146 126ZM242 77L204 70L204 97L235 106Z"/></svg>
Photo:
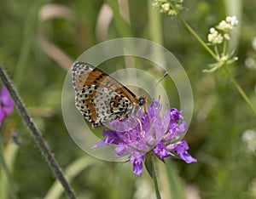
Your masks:
<svg viewBox="0 0 256 199"><path fill-rule="evenodd" d="M3 119L14 109L14 102L9 97L9 93L6 88L2 88L0 94L0 126Z"/></svg>

